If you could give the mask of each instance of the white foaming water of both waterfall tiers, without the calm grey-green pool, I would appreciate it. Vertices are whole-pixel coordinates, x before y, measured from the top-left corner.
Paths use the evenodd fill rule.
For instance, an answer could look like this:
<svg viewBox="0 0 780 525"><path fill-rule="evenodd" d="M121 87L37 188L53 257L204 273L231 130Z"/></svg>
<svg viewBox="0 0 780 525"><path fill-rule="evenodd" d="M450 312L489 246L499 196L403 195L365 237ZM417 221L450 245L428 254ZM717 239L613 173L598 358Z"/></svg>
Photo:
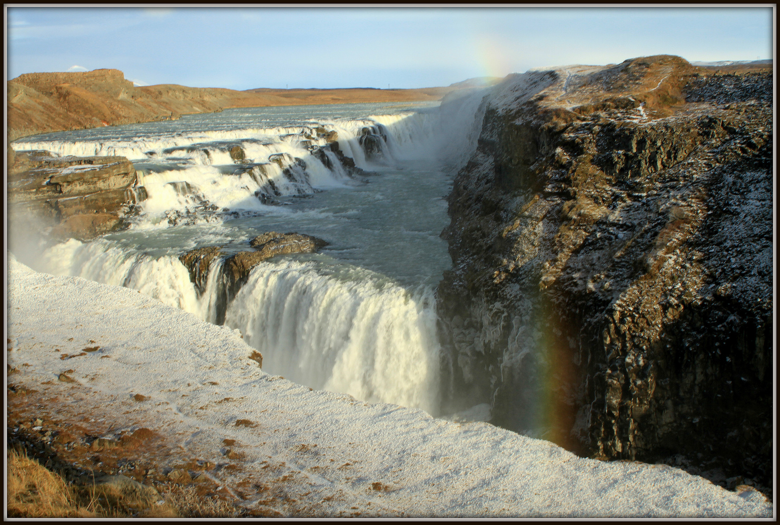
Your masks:
<svg viewBox="0 0 780 525"><path fill-rule="evenodd" d="M28 264L133 288L211 323L224 316L226 326L240 330L264 355L264 369L271 373L312 388L436 415L439 345L432 284L402 285L326 255L285 257L254 266L246 283L229 297L224 255L211 262L202 292L179 255L201 246L245 244L250 233L225 226L235 213L243 213L254 227L253 217L285 216L284 206L269 205L274 198L364 184L356 180L360 170L385 173L396 170L399 162L441 156L451 169L456 167L463 152L476 147L471 131L481 120L480 101L481 95L470 93L441 108L303 126L203 125L172 133L138 125L134 134L114 130L111 135L103 128L16 141L15 149L59 155L126 155L137 167L138 186L148 195L127 232L90 242L71 239ZM424 177L413 170L392 173L406 173L410 181ZM375 197L377 202L384 199ZM328 216L323 214L322 220ZM438 239L440 230L409 234ZM349 254L349 248L344 252Z"/></svg>

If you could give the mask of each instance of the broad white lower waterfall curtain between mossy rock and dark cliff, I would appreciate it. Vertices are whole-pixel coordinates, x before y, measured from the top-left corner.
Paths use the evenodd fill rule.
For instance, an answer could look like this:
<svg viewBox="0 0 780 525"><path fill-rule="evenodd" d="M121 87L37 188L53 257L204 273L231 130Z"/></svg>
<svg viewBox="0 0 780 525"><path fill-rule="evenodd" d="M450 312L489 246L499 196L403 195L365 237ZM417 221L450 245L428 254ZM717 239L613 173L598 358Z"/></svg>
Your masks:
<svg viewBox="0 0 780 525"><path fill-rule="evenodd" d="M289 261L258 266L225 324L288 379L434 413L433 291L410 293L366 270L353 272L359 275L325 276Z"/></svg>

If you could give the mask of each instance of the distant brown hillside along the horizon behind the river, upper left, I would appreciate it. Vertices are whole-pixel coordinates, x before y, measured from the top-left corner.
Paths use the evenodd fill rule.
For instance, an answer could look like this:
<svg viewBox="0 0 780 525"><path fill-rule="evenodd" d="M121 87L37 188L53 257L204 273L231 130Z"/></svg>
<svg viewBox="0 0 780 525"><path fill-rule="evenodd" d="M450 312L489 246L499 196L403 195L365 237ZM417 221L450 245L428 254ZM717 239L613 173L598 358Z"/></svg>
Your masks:
<svg viewBox="0 0 780 525"><path fill-rule="evenodd" d="M119 70L26 73L8 81L8 135L14 141L51 131L165 120L225 108L438 100L448 91L452 87L250 91L176 84L134 87Z"/></svg>

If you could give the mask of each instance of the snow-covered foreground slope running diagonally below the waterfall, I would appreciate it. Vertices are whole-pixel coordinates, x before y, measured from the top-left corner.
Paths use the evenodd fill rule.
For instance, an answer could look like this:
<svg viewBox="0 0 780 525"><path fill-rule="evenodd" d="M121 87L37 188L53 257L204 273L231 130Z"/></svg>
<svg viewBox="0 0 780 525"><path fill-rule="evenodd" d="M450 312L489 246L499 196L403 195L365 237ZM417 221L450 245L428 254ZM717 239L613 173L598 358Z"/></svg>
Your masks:
<svg viewBox="0 0 780 525"><path fill-rule="evenodd" d="M232 330L128 288L36 273L12 256L8 282L15 381L48 388L63 403L87 392L79 402L91 402L94 417L129 414L118 416L127 428L115 431L143 425L190 457L224 461L223 440L236 440L240 468L214 474L219 482L283 482L296 502L249 494L242 505L310 516L773 513L756 491L726 491L669 466L582 459L487 423L311 391L264 373ZM100 349L60 359L90 341ZM76 383L57 381L66 370ZM137 394L151 399L133 401Z"/></svg>

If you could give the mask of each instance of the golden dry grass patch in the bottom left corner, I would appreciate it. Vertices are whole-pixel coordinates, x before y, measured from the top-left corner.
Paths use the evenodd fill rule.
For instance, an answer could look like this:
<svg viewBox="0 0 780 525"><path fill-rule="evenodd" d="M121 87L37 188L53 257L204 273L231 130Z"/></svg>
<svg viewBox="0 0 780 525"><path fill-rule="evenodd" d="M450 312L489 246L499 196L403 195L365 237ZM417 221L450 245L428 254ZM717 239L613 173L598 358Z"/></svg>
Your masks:
<svg viewBox="0 0 780 525"><path fill-rule="evenodd" d="M95 495L94 486L69 485L58 474L41 466L26 454L7 451L8 516L23 518L168 518L235 517L235 505L216 496L197 495L191 487L176 484L158 486L165 498L162 505L133 509L122 501L107 502Z"/></svg>

